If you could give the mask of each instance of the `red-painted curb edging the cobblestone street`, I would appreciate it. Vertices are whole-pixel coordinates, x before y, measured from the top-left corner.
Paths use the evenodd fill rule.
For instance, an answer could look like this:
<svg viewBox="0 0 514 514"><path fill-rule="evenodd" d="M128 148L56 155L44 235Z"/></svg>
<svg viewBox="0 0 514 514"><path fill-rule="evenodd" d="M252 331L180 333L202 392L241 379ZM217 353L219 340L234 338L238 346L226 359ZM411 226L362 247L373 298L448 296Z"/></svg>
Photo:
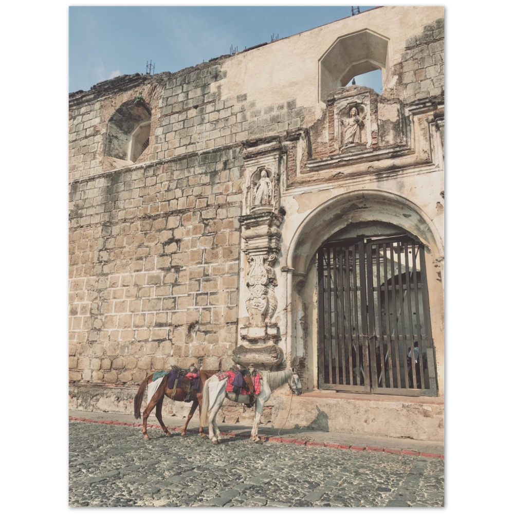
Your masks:
<svg viewBox="0 0 514 514"><path fill-rule="evenodd" d="M82 421L83 423L100 423L103 425L124 425L127 427L142 427L142 423L127 423L126 421L107 421L104 419L89 419L89 418L79 418L74 416L68 416L68 421ZM160 425L146 425L147 428L161 428ZM168 427L168 430L174 430L181 432L182 429L180 427ZM191 433L199 433L197 429L188 429L187 432ZM247 434L239 434L235 432L221 432L221 435L230 436L230 437L241 437L249 439L250 435ZM442 458L444 459L444 455L439 455L437 453L425 453L414 450L398 450L394 448L381 448L377 446L358 446L358 445L345 445L345 444L337 444L337 443L319 443L315 441L306 441L302 439L295 439L292 437L278 437L274 435L262 435L260 436L261 440L271 443L288 443L295 445L304 445L304 446L324 446L325 448L337 448L340 450L354 450L354 451L378 451L385 453L400 453L403 455L411 455L415 457L429 457L429 458Z"/></svg>

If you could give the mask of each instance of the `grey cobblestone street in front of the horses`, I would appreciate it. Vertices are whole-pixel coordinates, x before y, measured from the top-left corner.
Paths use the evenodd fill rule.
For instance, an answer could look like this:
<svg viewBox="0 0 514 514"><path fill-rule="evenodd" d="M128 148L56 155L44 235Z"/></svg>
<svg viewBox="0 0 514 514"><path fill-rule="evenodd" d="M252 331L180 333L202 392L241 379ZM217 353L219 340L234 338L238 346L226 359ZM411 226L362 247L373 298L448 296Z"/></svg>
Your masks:
<svg viewBox="0 0 514 514"><path fill-rule="evenodd" d="M444 507L445 463L68 422L69 507Z"/></svg>

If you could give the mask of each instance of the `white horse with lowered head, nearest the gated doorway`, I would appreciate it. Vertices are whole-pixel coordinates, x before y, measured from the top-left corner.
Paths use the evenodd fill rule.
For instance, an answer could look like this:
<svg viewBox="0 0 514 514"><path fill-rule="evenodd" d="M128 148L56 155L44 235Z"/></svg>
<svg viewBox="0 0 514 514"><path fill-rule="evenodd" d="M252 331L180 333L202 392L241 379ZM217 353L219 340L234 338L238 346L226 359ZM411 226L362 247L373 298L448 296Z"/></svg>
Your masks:
<svg viewBox="0 0 514 514"><path fill-rule="evenodd" d="M261 414L266 401L271 396L271 391L274 391L278 387L285 383L288 383L291 391L297 395L302 394L302 384L298 373L292 370L284 371L262 371L260 372L261 379L261 392L255 395L255 417L253 419L253 428L251 433L251 439L255 443L262 444L257 432L259 431L259 422L261 420ZM209 425L209 439L212 443L217 445L221 440L221 434L216 423L216 415L223 405L223 400L228 398L231 401L237 403L248 403L250 401L249 395L240 394L238 396L235 393L227 393L228 377L224 380L218 380L216 375L206 380L204 386L204 400L203 408L201 409L200 424L205 427Z"/></svg>

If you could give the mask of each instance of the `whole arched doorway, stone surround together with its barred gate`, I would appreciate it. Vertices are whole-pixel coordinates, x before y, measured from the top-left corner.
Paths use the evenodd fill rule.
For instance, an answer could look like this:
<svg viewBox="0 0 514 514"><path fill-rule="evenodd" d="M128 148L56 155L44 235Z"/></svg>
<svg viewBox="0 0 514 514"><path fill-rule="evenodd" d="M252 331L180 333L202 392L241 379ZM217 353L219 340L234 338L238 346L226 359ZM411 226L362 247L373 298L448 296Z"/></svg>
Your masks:
<svg viewBox="0 0 514 514"><path fill-rule="evenodd" d="M436 220L436 222L438 221ZM300 369L303 366L305 371L302 380L306 382L308 389L330 389L327 385L337 382L334 384L336 386L334 390L336 391L412 396L444 395L444 240L440 236L442 233L443 227L434 223L423 210L410 200L391 192L376 190L334 195L310 211L303 221L297 224L295 234L291 238L287 249L287 268L285 268L289 273L287 301L291 305L291 314L287 321L290 330L287 334L285 351L291 352L295 365L298 365ZM359 243L361 244L360 249ZM353 303L338 306L337 331L341 328L339 324L344 322L344 320L340 320L342 320L341 316L344 315L344 309L348 305L353 309L352 313L355 313L356 307L358 309L356 315L352 314L353 318L348 317L348 322L359 321L359 316L362 320L362 313L365 313L364 319L366 321L366 331L358 332L357 326L355 327L355 332L361 334L362 341L366 336L366 345L359 347L357 344L355 350L359 354L359 366L356 365L355 355L350 362L350 354L348 353L351 350L350 348L346 353L347 357L345 356L348 363L346 366L345 361L345 373L346 371L347 373L343 378L340 378L343 375L342 363L339 376L336 376L336 370L325 370L324 366L327 358L330 360L335 355L339 364L340 356L334 354L331 346L332 354L327 357L328 354L325 353L325 350L328 352L327 345L324 342L323 344L320 343L321 319L325 320L325 324L330 327L331 345L332 334L336 334L336 327L332 326L336 321L332 314L332 310L335 310L333 309L335 293L333 289L330 291L331 296L323 297L325 305L327 305L329 298L332 303L332 310L328 310L329 314L326 314L325 306L323 306L323 317L320 315L322 299L318 266L318 262L321 262L319 253L322 249L325 250L326 262L324 267L326 269L323 270L323 273L328 273L328 268L330 268L333 274L334 250L331 250L330 259L328 259L328 248L331 245L336 247L336 274L341 273L345 265L343 263L343 266L341 266L341 260L343 257L346 259L346 249L348 251L348 261L350 261L351 256L352 259L355 259L358 269L355 279L351 275L351 280L356 280L359 290L361 288L359 269L361 269L361 266L364 269L362 279L366 303L361 303L360 293L357 294L357 301L355 301L355 291L348 290L348 293L351 292L352 295L350 302L353 301ZM406 249L407 259L405 257ZM415 263L411 261L412 257L410 257L409 251L414 252ZM367 257L368 252L371 252L371 259ZM378 264L377 252L379 256ZM399 263L398 254L400 254ZM361 255L363 256L362 261L360 260ZM423 258L422 269L421 259ZM406 271L407 265L408 272ZM372 268L371 275L368 271L370 266ZM377 278L377 266L378 273L380 273L379 279ZM393 269L391 269L391 266L393 266ZM386 267L385 270L384 267ZM372 277L372 280L368 280L368 277ZM324 278L323 280L328 279ZM349 283L348 279L346 280ZM380 280L379 283L378 280ZM409 289L407 289L407 280L409 281ZM341 284L342 282L335 285L331 284L331 288L342 287ZM371 284L373 284L373 291L368 290L368 288L371 288ZM325 289L327 286L328 284ZM407 291L409 291L409 297ZM379 292L380 296L377 296ZM371 305L367 302L368 297L374 300L375 321L372 332L367 329L370 324L368 310L371 308ZM344 298L342 300L344 301ZM393 307L396 308L396 315ZM407 307L410 308L407 309ZM382 308L384 315L382 315ZM403 315L401 309L403 309ZM409 312L412 322L409 318ZM385 316L386 313L388 318ZM387 319L389 319L389 331ZM405 325L406 320L407 324ZM392 332L392 327L394 327L394 332ZM323 337L328 339L328 329L326 329L326 332L327 335L325 336L325 329L323 329ZM353 325L350 324L347 326L344 337L352 333ZM338 334L341 333L338 332ZM419 336L423 340L421 350ZM394 341L399 341L396 354L393 354L393 346L388 346L389 337L391 337L391 345L396 344ZM428 341L428 339L431 341ZM380 340L382 345L381 348L380 344L378 345L379 364L377 364L376 357L374 363L370 359L370 340L375 341L375 352L376 340ZM383 345L384 340L386 341L385 346ZM418 341L417 347L415 341ZM390 347L391 351L386 357L386 352ZM431 348L430 352L428 351L429 348ZM360 363L362 362L362 352L366 350L368 352L368 360L366 361L368 362L368 378L362 379ZM409 351L411 352L410 360L408 359ZM420 362L418 358L418 367L416 368L416 354L419 355L419 352L421 352L421 358L425 359L425 362ZM409 364L412 366L413 355L415 369L411 371ZM343 354L341 353L342 358ZM355 374L354 368L357 368ZM351 376L355 376L353 382L350 381L350 369ZM373 369L377 370L375 380L373 380ZM329 373L332 373L332 377L329 376ZM380 376L381 373L382 376Z"/></svg>

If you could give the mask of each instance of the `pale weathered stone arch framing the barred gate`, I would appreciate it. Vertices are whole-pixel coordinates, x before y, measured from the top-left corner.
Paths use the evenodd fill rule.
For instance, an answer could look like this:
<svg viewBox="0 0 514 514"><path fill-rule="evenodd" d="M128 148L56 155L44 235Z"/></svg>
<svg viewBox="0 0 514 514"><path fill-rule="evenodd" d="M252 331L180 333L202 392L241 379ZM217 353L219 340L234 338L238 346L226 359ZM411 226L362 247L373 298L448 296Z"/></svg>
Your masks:
<svg viewBox="0 0 514 514"><path fill-rule="evenodd" d="M444 394L444 291L440 267L444 244L427 214L397 194L380 191L344 193L318 206L300 224L287 252L287 269L291 270L287 297L291 312L295 313L288 323L287 349L293 356L293 363L304 362L308 369L308 373L305 373L307 387L316 389L317 250L343 229L351 231L352 227L358 227L358 230L372 230L374 226L397 227L427 249L427 280L438 389L439 394Z"/></svg>

